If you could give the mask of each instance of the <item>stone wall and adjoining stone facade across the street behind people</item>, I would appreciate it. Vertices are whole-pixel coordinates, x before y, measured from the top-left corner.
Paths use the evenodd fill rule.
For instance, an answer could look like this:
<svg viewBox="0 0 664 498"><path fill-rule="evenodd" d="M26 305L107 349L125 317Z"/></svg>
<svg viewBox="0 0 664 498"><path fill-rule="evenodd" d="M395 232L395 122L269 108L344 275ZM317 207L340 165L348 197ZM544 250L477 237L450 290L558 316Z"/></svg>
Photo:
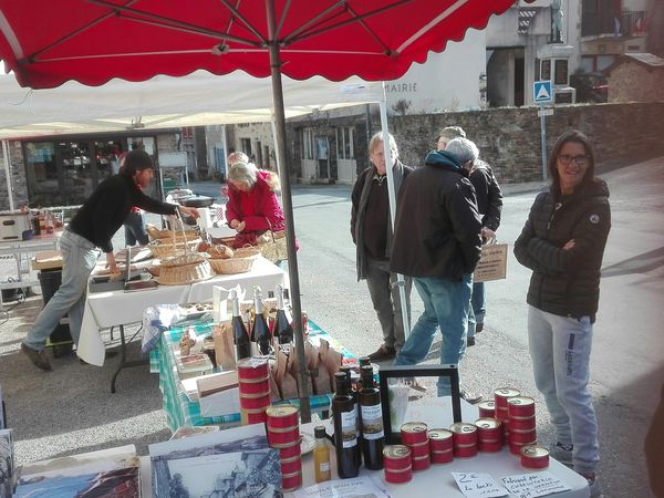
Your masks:
<svg viewBox="0 0 664 498"><path fill-rule="evenodd" d="M554 108L546 118L547 151L558 136L570 128L585 133L594 145L599 165L630 164L641 158L664 155L664 103L578 104ZM629 126L625 126L629 123ZM372 132L380 131L380 118L372 113ZM427 152L435 147L438 132L445 126L461 126L477 143L480 157L489 163L500 183L533 181L542 178L540 118L538 107L500 107L460 113L406 115L390 117L390 132L398 144L405 164L422 165ZM302 178L302 131L313 128L318 136L328 136L331 151L340 126L355 131L357 172L369 165L366 153L366 116L299 120L288 123L289 164ZM332 164L334 158L331 159ZM334 167L331 168L334 175ZM333 178L335 178L333 176ZM309 183L309 178L302 178Z"/></svg>

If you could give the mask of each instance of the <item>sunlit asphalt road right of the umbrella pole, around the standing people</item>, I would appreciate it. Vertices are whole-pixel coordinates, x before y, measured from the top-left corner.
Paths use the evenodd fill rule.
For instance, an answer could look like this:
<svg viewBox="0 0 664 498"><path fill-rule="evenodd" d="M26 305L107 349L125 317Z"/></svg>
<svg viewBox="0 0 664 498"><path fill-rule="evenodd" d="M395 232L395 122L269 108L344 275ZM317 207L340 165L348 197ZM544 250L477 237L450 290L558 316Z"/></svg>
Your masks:
<svg viewBox="0 0 664 498"><path fill-rule="evenodd" d="M664 158L604 175L611 189L612 230L594 325L591 391L600 424L600 477L609 497L649 497L643 437L664 382ZM506 186L498 236L510 246L539 186ZM526 186L528 188L528 186ZM350 187L298 187L295 231L302 307L351 351L366 354L381 331L364 282L355 277L349 230ZM511 194L510 194L511 191ZM461 383L490 395L512 385L538 401L540 442L552 437L527 350L525 303L530 272L510 255L508 278L488 289L486 330L461 364ZM414 292L413 318L422 311Z"/></svg>

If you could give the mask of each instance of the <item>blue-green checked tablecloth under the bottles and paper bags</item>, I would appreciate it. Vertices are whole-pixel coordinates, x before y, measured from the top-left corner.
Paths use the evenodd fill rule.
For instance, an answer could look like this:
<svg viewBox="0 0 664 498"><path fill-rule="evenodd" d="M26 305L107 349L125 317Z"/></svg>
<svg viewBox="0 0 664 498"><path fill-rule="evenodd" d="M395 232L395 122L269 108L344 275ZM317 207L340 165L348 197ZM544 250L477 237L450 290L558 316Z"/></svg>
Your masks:
<svg viewBox="0 0 664 498"><path fill-rule="evenodd" d="M175 432L183 426L199 426L199 425L216 425L224 424L228 426L240 424L240 414L224 415L218 417L204 417L200 415L200 405L198 402L189 400L185 393L181 383L178 380L177 366L175 362L174 345L179 343L183 333L188 330L190 333L196 332L196 335L207 335L211 333L214 325L197 325L196 328L172 329L162 334L158 346L149 353L151 372L159 374L159 388L164 395L163 408L166 412L168 427ZM309 335L318 336L330 342L334 350L339 351L344 363L354 362L355 356L343 347L339 342L331 338L326 332L319 328L315 323L309 320ZM311 396L311 411L324 412L330 408L331 394ZM290 405L300 405L299 400L288 400L282 402Z"/></svg>

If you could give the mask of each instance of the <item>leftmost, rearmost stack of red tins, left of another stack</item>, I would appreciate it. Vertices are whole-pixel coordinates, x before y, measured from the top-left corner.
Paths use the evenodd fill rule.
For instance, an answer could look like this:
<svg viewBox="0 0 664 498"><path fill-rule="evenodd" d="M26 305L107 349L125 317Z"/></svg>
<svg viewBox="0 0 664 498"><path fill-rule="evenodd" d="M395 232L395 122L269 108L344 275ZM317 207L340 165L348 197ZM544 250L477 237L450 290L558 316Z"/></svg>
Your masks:
<svg viewBox="0 0 664 498"><path fill-rule="evenodd" d="M270 406L270 367L267 359L248 357L237 365L242 425L266 422Z"/></svg>

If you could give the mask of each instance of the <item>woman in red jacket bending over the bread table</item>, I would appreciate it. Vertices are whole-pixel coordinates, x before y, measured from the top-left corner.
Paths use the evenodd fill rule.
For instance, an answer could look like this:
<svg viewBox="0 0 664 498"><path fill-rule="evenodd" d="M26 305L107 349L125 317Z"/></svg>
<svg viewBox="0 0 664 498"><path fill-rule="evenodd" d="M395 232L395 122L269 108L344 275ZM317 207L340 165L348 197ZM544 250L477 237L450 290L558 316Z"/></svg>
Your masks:
<svg viewBox="0 0 664 498"><path fill-rule="evenodd" d="M256 237L267 230L286 229L277 199L280 184L276 173L258 169L251 163L236 163L228 168L227 183L226 219L238 232L236 247L256 243Z"/></svg>

